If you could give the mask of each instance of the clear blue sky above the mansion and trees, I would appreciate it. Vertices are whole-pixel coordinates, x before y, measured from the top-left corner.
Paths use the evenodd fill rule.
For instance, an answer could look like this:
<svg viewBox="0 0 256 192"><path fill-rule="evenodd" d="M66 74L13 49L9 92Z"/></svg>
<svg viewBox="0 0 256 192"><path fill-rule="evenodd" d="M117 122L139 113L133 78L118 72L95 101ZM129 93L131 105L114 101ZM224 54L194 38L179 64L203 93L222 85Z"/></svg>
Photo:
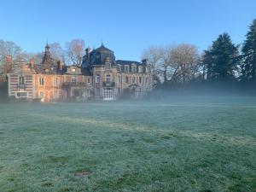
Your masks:
<svg viewBox="0 0 256 192"><path fill-rule="evenodd" d="M255 0L3 0L0 39L37 52L47 39L83 38L90 47L103 41L118 59L140 60L149 45L207 49L222 32L240 44L255 18Z"/></svg>

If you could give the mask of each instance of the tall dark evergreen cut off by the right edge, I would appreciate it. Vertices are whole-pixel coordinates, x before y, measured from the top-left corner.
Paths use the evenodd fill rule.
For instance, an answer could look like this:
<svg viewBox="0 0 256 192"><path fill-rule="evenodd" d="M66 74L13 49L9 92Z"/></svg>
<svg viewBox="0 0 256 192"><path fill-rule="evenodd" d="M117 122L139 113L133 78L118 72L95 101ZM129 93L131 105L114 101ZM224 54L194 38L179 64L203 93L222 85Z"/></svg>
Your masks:
<svg viewBox="0 0 256 192"><path fill-rule="evenodd" d="M243 61L241 63L241 78L256 81L256 20L249 26L246 40L242 46Z"/></svg>

